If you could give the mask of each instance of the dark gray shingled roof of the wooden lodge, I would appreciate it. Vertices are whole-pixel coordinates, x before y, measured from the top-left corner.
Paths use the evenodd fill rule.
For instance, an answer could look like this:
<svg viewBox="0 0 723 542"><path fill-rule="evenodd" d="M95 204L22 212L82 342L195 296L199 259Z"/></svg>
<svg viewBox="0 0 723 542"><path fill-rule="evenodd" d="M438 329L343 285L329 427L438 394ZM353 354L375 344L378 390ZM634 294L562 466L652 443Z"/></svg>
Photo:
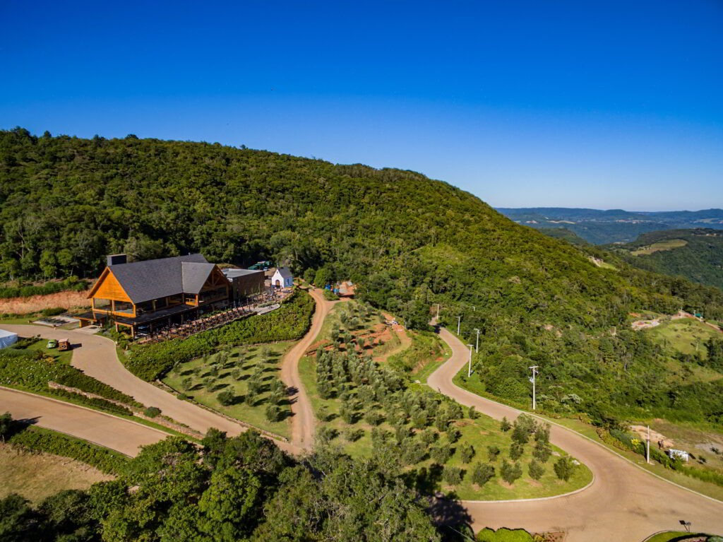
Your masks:
<svg viewBox="0 0 723 542"><path fill-rule="evenodd" d="M213 269L200 254L120 263L108 267L134 303L176 294L197 294Z"/></svg>

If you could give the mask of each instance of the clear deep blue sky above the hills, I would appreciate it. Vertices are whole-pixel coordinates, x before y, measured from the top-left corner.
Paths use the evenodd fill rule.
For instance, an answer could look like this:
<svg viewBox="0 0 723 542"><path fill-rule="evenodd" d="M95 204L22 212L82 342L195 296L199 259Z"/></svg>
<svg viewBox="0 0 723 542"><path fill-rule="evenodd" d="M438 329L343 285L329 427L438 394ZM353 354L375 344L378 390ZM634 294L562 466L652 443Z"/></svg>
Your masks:
<svg viewBox="0 0 723 542"><path fill-rule="evenodd" d="M722 36L719 0L6 0L0 128L414 169L493 206L722 207Z"/></svg>

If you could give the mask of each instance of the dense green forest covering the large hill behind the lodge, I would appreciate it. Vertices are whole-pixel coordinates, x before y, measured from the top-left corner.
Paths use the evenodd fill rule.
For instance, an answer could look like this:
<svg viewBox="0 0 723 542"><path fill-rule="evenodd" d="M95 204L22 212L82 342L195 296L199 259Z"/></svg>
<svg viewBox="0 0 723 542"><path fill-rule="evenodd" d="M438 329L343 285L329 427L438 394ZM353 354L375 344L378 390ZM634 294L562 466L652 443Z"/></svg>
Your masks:
<svg viewBox="0 0 723 542"><path fill-rule="evenodd" d="M239 265L269 258L296 274L351 279L362 300L412 327L426 326L435 303L450 327L462 316L464 335L482 331L487 366L518 380L514 393L495 391L502 397L528 393L520 386L534 362L550 410L603 417L645 409L687 385L697 387L686 396L711 397L696 411L702 418L723 412L715 382L657 378L664 352L622 332L643 310L702 308L721 319L721 290L552 239L415 172L17 128L0 132L0 216L5 281L96 276L104 255L118 252L198 251ZM563 402L570 394L580 401Z"/></svg>

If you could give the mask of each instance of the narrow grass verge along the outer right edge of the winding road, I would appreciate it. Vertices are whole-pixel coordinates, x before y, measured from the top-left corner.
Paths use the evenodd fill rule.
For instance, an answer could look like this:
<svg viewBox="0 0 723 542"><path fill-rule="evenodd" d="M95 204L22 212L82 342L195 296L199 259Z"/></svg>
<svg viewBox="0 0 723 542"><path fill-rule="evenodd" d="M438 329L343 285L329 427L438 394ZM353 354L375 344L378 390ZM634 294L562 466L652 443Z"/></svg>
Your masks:
<svg viewBox="0 0 723 542"><path fill-rule="evenodd" d="M472 377L467 380L464 370L460 370L460 372L457 373L454 378L454 383L461 388L466 389L467 391L471 391L472 393L479 395L480 397L486 397L488 399L492 399L493 401L500 402L502 405L509 405L523 411L527 410L524 405L519 405L518 403L511 402L508 399L500 399L500 397L493 397L492 395L488 394L484 391L484 386L482 386L482 383L479 381L479 379L476 378L475 375L472 375ZM606 448L617 452L618 454L634 462L636 465L644 468L645 470L649 470L651 473L659 475L661 478L665 478L666 480L675 482L685 488L693 489L693 491L698 491L703 495L711 496L714 499L723 500L722 487L716 486L713 483L703 482L702 480L692 478L690 476L684 475L683 473L678 473L675 470L667 469L663 465L660 465L656 462L653 462L651 465L647 465L644 458L641 457L639 454L624 449L618 449L617 447L611 446L606 442L602 441L602 439L600 439L600 437L596 433L595 428L588 423L583 423L581 420L570 418L552 418L551 416L542 415L539 412L535 412L535 415L539 416L540 418L544 418L545 420L549 420L550 422L562 425L568 429L572 429L573 431L576 431L576 433L587 436L590 439L593 439L598 444L602 444L602 446L605 446Z"/></svg>

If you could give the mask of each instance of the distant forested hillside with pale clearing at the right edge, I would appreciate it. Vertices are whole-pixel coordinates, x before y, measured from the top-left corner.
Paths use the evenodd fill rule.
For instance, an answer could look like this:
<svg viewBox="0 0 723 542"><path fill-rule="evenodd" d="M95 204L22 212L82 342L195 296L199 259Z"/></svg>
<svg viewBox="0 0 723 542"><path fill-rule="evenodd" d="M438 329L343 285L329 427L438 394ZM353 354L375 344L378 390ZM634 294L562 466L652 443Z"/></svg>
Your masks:
<svg viewBox="0 0 723 542"><path fill-rule="evenodd" d="M643 234L634 242L604 248L648 271L723 289L723 230L671 229Z"/></svg>

